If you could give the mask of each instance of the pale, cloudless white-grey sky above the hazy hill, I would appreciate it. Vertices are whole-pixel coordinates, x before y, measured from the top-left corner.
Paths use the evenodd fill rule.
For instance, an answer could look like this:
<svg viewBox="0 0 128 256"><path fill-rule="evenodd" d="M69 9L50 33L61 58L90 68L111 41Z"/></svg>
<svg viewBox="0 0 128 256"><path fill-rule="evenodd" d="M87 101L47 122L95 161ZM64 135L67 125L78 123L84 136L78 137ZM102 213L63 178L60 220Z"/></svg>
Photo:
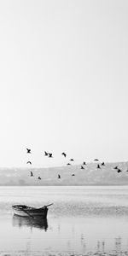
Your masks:
<svg viewBox="0 0 128 256"><path fill-rule="evenodd" d="M125 0L0 2L0 167L128 160L127 13Z"/></svg>

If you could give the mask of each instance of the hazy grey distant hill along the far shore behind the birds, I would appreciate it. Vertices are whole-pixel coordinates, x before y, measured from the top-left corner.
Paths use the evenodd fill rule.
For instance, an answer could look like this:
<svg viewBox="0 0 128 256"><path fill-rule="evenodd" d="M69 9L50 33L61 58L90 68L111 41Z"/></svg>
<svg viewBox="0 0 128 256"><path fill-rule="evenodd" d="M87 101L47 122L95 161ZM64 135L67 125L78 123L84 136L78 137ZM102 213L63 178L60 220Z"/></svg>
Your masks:
<svg viewBox="0 0 128 256"><path fill-rule="evenodd" d="M0 168L0 186L58 186L58 185L128 185L128 162L105 163L97 169L98 162L81 166L50 168ZM113 167L118 166L122 172ZM33 177L30 176L32 171ZM61 178L58 178L60 174ZM72 176L74 174L74 176ZM38 177L41 180L38 180Z"/></svg>

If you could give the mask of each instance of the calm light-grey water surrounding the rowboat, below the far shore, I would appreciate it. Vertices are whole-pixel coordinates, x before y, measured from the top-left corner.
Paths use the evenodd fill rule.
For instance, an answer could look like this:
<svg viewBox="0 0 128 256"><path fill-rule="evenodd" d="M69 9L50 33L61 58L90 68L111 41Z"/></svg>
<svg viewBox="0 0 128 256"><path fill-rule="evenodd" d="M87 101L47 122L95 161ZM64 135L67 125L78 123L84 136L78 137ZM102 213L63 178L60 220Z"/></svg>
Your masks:
<svg viewBox="0 0 128 256"><path fill-rule="evenodd" d="M47 221L18 218L11 209L52 202ZM128 187L0 187L0 255L127 252Z"/></svg>

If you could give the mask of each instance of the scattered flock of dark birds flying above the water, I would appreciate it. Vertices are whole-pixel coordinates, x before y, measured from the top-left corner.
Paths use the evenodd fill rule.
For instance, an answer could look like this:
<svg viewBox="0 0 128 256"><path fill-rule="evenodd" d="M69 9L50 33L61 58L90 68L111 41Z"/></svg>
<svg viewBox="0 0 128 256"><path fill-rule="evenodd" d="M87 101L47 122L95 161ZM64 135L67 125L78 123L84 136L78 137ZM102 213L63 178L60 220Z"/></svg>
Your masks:
<svg viewBox="0 0 128 256"><path fill-rule="evenodd" d="M32 154L32 150L31 150L30 148L26 148L26 153L27 153L27 154ZM65 152L62 152L61 154L64 156L64 158L67 157L67 154L66 154ZM47 152L47 151L44 151L44 156L47 156L47 157L49 157L49 158L53 158L53 154L52 154L52 153L49 153L49 152ZM74 161L73 158L71 158L71 159L69 160L69 162L67 163L67 166L71 166L71 165L72 165L71 162L73 162L73 161ZM99 162L98 159L95 159L94 161L95 161L95 162ZM30 160L28 160L28 161L26 162L26 164L32 165L32 162L31 162ZM84 166L86 166L86 165L87 165L87 164L86 164L86 162L84 161L83 164L80 166L80 169L81 169L81 170L84 170ZM102 169L102 166L105 166L105 163L104 163L104 162L102 162L101 165L100 165L99 163L97 163L96 169ZM118 173L119 173L119 172L122 172L122 170L120 170L118 166L113 167L113 169L116 170L116 172L118 172ZM128 172L128 170L126 170L126 172ZM33 175L33 172L31 171L31 172L30 172L30 177L33 177L33 176L34 176L34 175ZM72 176L75 176L75 174L73 173ZM58 178L61 178L61 175L60 175L60 174L58 174ZM40 177L40 176L38 176L38 180L41 180L41 177Z"/></svg>

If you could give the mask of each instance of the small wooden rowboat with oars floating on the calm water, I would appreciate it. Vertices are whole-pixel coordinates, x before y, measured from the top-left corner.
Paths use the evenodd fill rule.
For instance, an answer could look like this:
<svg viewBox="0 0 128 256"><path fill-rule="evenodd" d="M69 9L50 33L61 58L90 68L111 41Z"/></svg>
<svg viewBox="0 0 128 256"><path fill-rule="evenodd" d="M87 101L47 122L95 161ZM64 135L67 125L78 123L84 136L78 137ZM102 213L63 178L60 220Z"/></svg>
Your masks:
<svg viewBox="0 0 128 256"><path fill-rule="evenodd" d="M49 204L48 206L35 208L35 207L27 207L25 205L15 205L12 206L14 214L22 217L30 217L30 218L47 218L48 207L53 204Z"/></svg>

